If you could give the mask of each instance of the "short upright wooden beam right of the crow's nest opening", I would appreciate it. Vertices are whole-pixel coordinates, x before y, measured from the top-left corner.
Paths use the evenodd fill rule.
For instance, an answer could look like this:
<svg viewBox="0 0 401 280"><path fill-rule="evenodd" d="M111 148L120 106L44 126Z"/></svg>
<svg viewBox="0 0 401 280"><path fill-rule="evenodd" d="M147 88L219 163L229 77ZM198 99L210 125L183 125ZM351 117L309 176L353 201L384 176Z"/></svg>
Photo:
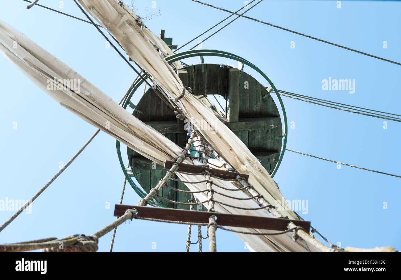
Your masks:
<svg viewBox="0 0 401 280"><path fill-rule="evenodd" d="M239 69L230 68L228 71L227 89L227 120L238 122L239 110Z"/></svg>

